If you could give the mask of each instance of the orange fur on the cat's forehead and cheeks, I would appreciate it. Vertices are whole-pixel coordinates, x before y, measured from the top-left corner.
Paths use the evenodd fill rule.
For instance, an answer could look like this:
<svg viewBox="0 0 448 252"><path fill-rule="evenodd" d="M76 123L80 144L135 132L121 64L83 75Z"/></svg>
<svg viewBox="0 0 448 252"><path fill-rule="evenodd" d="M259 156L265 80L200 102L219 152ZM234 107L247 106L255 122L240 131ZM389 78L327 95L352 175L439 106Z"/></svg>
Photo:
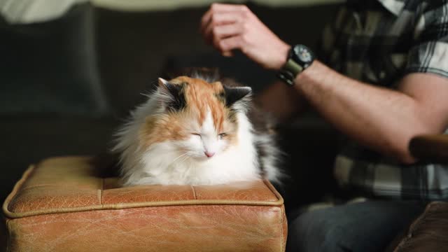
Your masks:
<svg viewBox="0 0 448 252"><path fill-rule="evenodd" d="M234 112L225 107L219 94L223 93L221 82L207 83L205 80L181 76L169 80L169 83L181 85L186 98L186 109L179 113L167 113L160 116L149 116L141 129L142 144L145 147L163 141L185 140L193 133L193 125L200 128L211 112L214 126L218 132L226 133L230 144L237 144L237 121ZM229 119L232 120L229 120Z"/></svg>

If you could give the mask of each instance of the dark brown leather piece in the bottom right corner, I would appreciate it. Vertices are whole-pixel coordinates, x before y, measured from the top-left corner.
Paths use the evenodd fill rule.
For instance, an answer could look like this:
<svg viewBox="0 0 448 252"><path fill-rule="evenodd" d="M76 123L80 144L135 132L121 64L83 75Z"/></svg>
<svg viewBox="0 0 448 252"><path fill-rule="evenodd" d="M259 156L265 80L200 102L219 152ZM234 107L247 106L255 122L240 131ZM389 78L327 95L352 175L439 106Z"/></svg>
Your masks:
<svg viewBox="0 0 448 252"><path fill-rule="evenodd" d="M448 203L432 202L409 227L394 252L448 251Z"/></svg>

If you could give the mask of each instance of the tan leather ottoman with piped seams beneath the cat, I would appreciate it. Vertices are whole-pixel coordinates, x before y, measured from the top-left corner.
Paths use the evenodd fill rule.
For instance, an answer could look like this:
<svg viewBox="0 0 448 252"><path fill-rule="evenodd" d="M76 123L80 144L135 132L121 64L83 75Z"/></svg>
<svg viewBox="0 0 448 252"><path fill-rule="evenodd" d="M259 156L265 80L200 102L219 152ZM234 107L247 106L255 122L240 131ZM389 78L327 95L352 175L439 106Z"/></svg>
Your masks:
<svg viewBox="0 0 448 252"><path fill-rule="evenodd" d="M88 157L32 165L3 204L8 251L284 251L268 181L120 188Z"/></svg>

